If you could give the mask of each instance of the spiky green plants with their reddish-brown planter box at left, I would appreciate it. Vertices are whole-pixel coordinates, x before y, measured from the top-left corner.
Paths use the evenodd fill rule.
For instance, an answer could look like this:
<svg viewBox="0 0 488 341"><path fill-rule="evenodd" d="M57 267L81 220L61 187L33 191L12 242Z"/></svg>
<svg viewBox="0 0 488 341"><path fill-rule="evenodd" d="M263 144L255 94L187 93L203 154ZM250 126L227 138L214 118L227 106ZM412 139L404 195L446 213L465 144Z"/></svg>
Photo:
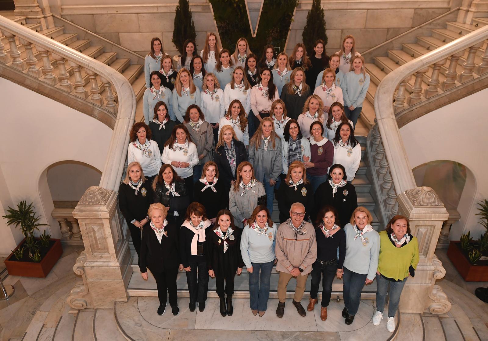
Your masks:
<svg viewBox="0 0 488 341"><path fill-rule="evenodd" d="M47 276L61 257L61 239L52 239L49 233L44 232L35 237L34 232L39 231L41 217L37 216L33 203L27 205L27 201L20 201L17 209L8 207L7 226L20 226L24 239L12 250L12 253L4 261L10 275L24 277Z"/></svg>

